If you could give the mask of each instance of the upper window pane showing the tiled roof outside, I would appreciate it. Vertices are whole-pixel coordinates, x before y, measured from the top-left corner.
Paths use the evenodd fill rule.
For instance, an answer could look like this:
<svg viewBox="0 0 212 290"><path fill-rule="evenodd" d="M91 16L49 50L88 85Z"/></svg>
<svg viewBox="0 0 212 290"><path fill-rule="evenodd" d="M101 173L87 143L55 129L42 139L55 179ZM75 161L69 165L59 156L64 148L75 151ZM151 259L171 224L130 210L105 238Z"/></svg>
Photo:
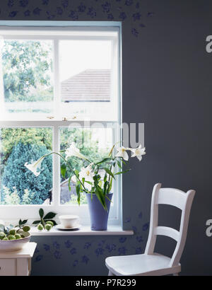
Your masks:
<svg viewBox="0 0 212 290"><path fill-rule="evenodd" d="M61 111L70 116L112 114L112 41L59 42ZM100 119L101 119L100 117Z"/></svg>

